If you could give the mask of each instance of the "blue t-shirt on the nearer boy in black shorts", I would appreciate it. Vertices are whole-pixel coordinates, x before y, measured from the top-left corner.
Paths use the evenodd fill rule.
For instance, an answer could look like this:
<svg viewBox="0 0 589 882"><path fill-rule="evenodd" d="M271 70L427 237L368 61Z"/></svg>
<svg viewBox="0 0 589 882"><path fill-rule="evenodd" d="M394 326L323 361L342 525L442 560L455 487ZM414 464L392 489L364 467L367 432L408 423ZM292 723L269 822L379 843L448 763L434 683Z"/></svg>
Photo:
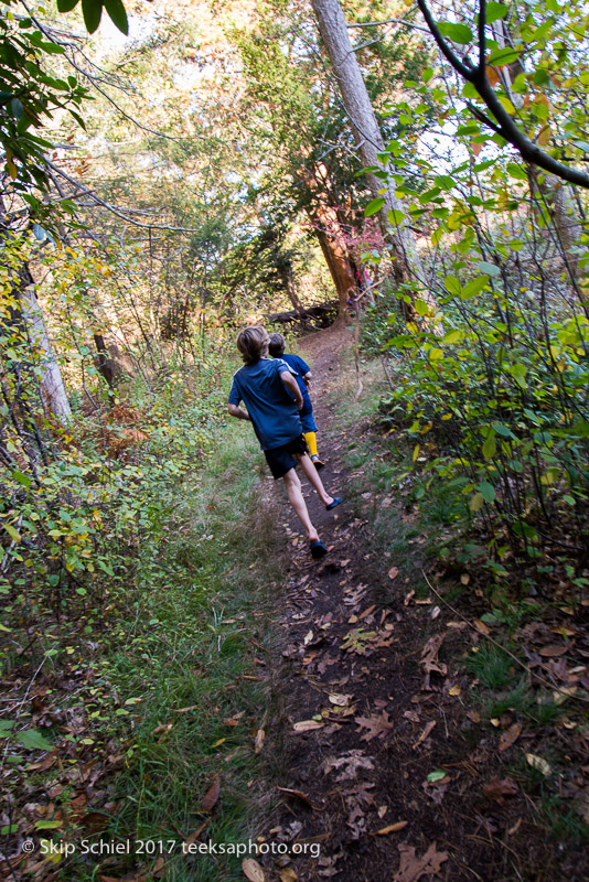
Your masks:
<svg viewBox="0 0 589 882"><path fill-rule="evenodd" d="M291 373L282 359L260 358L233 375L229 405L244 401L263 450L288 444L302 433L299 409L280 375Z"/></svg>

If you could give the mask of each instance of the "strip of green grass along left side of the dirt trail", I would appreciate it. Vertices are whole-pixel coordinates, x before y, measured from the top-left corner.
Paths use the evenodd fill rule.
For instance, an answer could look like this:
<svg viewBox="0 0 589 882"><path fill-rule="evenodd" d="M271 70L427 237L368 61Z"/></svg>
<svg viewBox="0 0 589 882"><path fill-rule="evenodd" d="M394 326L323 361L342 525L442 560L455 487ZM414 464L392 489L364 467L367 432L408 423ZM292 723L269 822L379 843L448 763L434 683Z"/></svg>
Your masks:
<svg viewBox="0 0 589 882"><path fill-rule="evenodd" d="M207 817L200 806L215 775L221 794L204 839L247 840L267 802L251 785L260 770L253 735L267 696L263 682L247 678L264 670L255 657L264 662L269 647L283 546L270 505L260 504L259 462L250 433L233 424L222 430L215 455L179 484L160 541L146 544L114 626L114 649L100 664L110 692L140 699L129 706L139 714L116 779L116 817L101 839L180 840L179 831L189 835ZM225 722L236 714L243 714L237 725ZM231 857L172 856L163 879L237 880L239 864ZM131 865L132 858L118 869ZM67 878L85 882L96 868L78 862L72 871Z"/></svg>

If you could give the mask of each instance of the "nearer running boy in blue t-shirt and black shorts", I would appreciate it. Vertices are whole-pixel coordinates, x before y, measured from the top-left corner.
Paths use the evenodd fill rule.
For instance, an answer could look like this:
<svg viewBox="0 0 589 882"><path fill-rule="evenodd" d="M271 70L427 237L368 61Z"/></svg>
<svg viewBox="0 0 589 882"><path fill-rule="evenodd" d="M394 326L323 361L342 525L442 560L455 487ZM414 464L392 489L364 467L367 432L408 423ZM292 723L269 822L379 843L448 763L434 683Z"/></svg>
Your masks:
<svg viewBox="0 0 589 882"><path fill-rule="evenodd" d="M300 464L328 512L342 501L325 491L307 453L299 416L303 398L286 362L267 357L269 341L260 325L239 332L237 348L245 364L233 376L227 409L232 417L251 422L275 480L285 481L289 502L309 537L311 555L319 559L328 549L311 524L294 466ZM242 401L247 412L239 407Z"/></svg>

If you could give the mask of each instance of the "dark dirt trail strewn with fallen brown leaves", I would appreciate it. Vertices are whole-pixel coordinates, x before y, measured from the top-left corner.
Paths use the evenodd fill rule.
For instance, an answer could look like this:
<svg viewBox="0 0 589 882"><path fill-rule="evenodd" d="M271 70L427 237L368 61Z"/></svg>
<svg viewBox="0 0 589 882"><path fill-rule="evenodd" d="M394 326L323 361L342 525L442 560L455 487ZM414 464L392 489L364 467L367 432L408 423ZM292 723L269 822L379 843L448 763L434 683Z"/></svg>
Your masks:
<svg viewBox="0 0 589 882"><path fill-rule="evenodd" d="M350 345L345 332L301 343L315 377L319 450L329 463L322 477L349 501L349 439L325 396ZM312 562L290 521L272 678L280 709L268 721L267 747L274 742L286 756L279 784L293 793L282 792L265 835L308 850L319 845L321 856L282 868L263 859L266 879L580 882L583 870L565 867L534 827L523 793L497 778L496 740L472 711L469 719L465 623L437 609L435 598L416 604L400 578L397 588L399 561L376 550L371 524L350 504L325 513L306 495L331 551Z"/></svg>

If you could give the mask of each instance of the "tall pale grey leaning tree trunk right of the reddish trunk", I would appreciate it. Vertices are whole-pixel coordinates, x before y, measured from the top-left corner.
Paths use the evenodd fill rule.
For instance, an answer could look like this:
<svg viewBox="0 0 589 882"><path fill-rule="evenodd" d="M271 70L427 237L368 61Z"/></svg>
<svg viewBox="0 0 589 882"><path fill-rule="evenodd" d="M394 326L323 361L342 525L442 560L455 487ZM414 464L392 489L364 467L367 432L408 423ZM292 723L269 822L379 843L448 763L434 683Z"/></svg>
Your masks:
<svg viewBox="0 0 589 882"><path fill-rule="evenodd" d="M384 169L377 158L377 153L384 152L385 149L383 136L350 42L340 2L339 0L311 0L311 6L352 123L360 158L365 166ZM383 195L385 198L378 217L383 236L393 247L395 280L397 282L416 281L424 284L421 261L407 223L404 204L395 196L390 186L387 186L386 192L382 193L385 183L375 174L368 172L366 181L375 197ZM389 211L398 213L395 224L388 219ZM427 297L422 291L420 295Z"/></svg>

